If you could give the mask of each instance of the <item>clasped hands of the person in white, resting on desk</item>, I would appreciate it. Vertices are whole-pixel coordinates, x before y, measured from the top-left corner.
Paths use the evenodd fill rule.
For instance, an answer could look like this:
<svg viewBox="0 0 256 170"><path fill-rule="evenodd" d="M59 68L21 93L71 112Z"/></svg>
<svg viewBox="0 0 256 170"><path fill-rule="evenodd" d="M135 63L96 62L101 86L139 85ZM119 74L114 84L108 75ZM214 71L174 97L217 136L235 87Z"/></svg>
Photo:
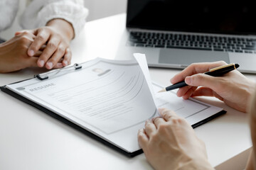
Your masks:
<svg viewBox="0 0 256 170"><path fill-rule="evenodd" d="M15 72L26 67L61 68L70 64L70 40L53 26L22 30L0 44L0 72Z"/></svg>

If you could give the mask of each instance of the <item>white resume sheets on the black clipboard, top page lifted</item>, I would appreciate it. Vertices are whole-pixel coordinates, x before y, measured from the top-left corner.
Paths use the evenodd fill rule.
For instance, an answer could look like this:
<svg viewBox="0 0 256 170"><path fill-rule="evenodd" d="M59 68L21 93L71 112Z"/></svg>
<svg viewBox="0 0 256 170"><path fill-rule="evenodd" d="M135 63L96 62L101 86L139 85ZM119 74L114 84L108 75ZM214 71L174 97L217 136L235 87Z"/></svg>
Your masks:
<svg viewBox="0 0 256 170"><path fill-rule="evenodd" d="M49 72L48 79L33 78L6 85L5 89L128 154L140 149L137 132L146 120L158 116L156 106L177 111L191 125L222 111L196 100L184 101L171 93L154 95L162 87L152 87L145 57L137 61L97 58L80 67L59 69L55 74Z"/></svg>

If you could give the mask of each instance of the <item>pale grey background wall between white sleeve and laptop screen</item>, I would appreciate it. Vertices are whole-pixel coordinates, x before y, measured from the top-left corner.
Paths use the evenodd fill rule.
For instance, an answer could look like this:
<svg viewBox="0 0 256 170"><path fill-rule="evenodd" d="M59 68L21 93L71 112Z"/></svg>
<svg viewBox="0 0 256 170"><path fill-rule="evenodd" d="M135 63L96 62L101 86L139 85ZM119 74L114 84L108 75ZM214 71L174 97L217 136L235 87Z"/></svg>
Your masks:
<svg viewBox="0 0 256 170"><path fill-rule="evenodd" d="M84 0L85 7L89 9L90 14L87 21L92 21L118 13L124 13L127 10L127 0ZM139 1L139 0L138 0Z"/></svg>

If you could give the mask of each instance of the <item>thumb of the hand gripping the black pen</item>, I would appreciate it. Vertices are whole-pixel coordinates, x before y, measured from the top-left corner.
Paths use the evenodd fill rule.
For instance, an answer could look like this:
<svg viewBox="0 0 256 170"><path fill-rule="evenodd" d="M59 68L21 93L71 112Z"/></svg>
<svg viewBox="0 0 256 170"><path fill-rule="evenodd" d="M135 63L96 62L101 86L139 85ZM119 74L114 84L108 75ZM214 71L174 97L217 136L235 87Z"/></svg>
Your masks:
<svg viewBox="0 0 256 170"><path fill-rule="evenodd" d="M185 82L189 86L205 86L213 90L218 89L218 78L206 74L194 74L191 77L186 77Z"/></svg>

